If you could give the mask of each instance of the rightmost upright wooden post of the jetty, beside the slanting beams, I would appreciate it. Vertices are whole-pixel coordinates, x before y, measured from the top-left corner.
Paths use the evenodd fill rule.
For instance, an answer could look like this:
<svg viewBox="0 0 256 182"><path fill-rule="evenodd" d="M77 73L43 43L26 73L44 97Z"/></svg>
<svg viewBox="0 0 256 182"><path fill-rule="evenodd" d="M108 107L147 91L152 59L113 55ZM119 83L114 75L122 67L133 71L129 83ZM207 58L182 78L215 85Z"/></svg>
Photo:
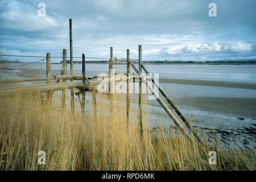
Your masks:
<svg viewBox="0 0 256 182"><path fill-rule="evenodd" d="M142 45L139 45L139 71L142 72ZM143 136L143 127L142 127L142 79L139 77L139 126L141 135Z"/></svg>

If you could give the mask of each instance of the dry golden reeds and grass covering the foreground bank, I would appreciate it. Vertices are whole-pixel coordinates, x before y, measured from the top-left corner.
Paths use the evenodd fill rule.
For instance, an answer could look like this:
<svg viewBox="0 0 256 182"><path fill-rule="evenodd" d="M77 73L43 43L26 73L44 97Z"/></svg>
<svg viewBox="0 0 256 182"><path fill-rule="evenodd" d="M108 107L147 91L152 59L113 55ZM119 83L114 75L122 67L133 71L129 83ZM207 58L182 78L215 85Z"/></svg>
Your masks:
<svg viewBox="0 0 256 182"><path fill-rule="evenodd" d="M67 93L68 94L68 93ZM92 97L89 94L89 97ZM117 96L115 96L117 97ZM66 100L55 93L52 104L40 94L0 98L1 170L254 170L254 150L225 151L220 144L200 146L179 137L158 138L150 133L144 112L144 135L138 132L137 112L126 122L126 104L114 102L109 119L106 96L97 94L97 121L92 101L86 100L83 118L76 102L72 117ZM217 165L209 165L208 152L217 152ZM38 152L45 151L46 165L38 164Z"/></svg>

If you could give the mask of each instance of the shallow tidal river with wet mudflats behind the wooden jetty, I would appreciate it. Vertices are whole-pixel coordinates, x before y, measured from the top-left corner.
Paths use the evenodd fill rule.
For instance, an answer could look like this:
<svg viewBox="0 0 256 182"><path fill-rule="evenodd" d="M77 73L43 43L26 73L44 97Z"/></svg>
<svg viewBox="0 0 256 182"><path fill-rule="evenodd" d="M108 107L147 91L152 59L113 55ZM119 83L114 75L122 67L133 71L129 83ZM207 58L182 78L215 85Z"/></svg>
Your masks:
<svg viewBox="0 0 256 182"><path fill-rule="evenodd" d="M20 64L0 64L0 68L16 65ZM126 72L126 65L113 66L115 72ZM225 142L233 142L236 139L239 145L243 146L247 146L249 140L254 143L256 65L146 64L145 66L151 73L159 73L160 85L185 118L193 121L195 130L203 129L208 135L210 132L218 133ZM86 75L108 73L108 67L108 64L86 64ZM51 75L56 75L61 68L60 64L51 64ZM130 71L134 72L132 68ZM81 64L74 65L74 72L81 74ZM1 79L45 77L45 75L46 64L0 69ZM33 82L33 84L38 83L40 82ZM158 102L147 99L144 102L147 103L144 108L150 113L152 129L158 127L159 120L163 121L168 129L170 118ZM135 109L138 107L137 103L133 105Z"/></svg>

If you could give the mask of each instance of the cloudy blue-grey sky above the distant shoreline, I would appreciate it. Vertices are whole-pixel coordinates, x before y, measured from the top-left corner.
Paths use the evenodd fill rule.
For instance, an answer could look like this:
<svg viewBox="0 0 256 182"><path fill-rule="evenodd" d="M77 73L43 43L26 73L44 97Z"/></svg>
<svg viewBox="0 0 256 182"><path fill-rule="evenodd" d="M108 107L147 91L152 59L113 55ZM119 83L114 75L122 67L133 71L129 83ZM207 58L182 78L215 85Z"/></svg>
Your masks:
<svg viewBox="0 0 256 182"><path fill-rule="evenodd" d="M212 2L216 17L208 15ZM38 16L39 3L46 4L45 17ZM255 8L255 0L0 0L0 53L69 53L72 18L73 56L108 58L113 46L114 57L130 49L137 59L142 44L143 60L256 59Z"/></svg>

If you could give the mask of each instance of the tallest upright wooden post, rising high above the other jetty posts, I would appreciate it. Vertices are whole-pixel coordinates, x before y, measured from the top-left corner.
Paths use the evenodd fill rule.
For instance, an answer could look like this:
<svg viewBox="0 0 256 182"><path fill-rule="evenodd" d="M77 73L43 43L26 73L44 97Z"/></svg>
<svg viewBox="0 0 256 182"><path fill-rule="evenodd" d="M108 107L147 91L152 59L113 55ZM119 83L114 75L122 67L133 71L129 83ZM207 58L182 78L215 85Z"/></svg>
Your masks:
<svg viewBox="0 0 256 182"><path fill-rule="evenodd" d="M72 38L72 19L69 19L69 49L70 49L70 75L73 75L73 38ZM71 79L73 81L73 78ZM75 101L74 101L75 90L71 89L71 111L74 114Z"/></svg>

